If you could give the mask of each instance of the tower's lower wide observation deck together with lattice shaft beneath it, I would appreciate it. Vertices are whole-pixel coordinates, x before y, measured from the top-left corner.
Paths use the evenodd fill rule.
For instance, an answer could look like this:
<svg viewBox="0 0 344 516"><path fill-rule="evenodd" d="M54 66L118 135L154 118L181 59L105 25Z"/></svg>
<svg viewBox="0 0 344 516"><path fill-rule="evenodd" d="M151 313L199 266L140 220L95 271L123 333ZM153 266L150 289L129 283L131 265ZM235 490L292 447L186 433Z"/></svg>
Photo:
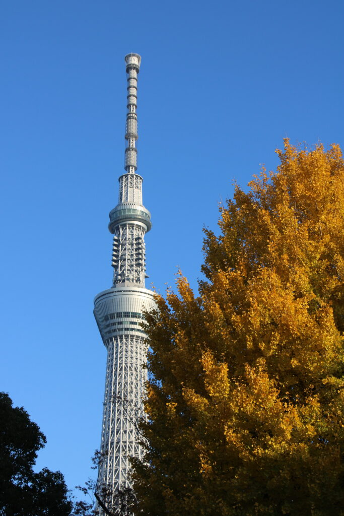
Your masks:
<svg viewBox="0 0 344 516"><path fill-rule="evenodd" d="M153 308L154 294L146 288L111 288L94 300L94 316L107 348L98 492L114 494L130 487L129 458L141 457L136 423L143 414L146 381L142 318L144 310Z"/></svg>

